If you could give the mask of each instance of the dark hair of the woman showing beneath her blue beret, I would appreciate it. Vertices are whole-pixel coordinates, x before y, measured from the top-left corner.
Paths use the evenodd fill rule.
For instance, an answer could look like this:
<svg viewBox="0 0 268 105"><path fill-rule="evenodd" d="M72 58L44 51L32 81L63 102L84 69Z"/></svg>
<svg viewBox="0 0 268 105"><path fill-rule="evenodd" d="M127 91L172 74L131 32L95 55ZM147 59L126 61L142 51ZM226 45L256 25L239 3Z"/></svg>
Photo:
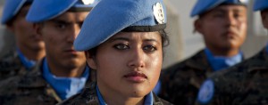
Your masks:
<svg viewBox="0 0 268 105"><path fill-rule="evenodd" d="M167 33L165 32L165 30L160 30L158 31L158 33L160 34L161 36L161 40L162 40L162 47L165 47L165 46L168 46L170 44L170 39L169 39L169 36L167 35ZM94 47L86 52L88 52L90 54L90 56L96 56L96 50L97 50L97 47Z"/></svg>

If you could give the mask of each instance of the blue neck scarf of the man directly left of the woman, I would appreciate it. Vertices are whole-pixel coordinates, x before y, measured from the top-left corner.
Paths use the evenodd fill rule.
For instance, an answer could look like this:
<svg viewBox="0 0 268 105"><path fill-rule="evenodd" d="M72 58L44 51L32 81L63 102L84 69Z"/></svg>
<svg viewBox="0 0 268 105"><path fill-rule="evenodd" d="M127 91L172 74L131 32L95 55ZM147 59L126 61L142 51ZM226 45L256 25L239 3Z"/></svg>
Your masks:
<svg viewBox="0 0 268 105"><path fill-rule="evenodd" d="M76 93L80 93L80 91L85 87L87 83L88 76L89 69L86 67L81 77L55 77L50 72L46 58L43 61L43 77L63 100L71 97Z"/></svg>

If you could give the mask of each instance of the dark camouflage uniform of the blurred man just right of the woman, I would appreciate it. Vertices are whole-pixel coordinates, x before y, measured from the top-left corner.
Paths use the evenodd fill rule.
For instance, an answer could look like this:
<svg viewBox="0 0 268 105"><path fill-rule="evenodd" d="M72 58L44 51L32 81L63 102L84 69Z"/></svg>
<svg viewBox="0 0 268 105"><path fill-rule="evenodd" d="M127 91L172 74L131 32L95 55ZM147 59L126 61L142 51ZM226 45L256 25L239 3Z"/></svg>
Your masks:
<svg viewBox="0 0 268 105"><path fill-rule="evenodd" d="M163 69L159 96L174 104L192 105L197 99L200 85L213 71L205 51L197 52L188 60Z"/></svg>

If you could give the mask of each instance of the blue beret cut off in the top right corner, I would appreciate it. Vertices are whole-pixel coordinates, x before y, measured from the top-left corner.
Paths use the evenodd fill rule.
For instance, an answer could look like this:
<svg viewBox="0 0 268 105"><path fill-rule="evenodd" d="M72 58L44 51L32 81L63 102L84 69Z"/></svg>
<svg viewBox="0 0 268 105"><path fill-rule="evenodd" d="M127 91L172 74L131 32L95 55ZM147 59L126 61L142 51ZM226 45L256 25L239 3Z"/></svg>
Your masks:
<svg viewBox="0 0 268 105"><path fill-rule="evenodd" d="M254 11L263 11L268 8L268 1L267 0L255 0L253 5Z"/></svg>

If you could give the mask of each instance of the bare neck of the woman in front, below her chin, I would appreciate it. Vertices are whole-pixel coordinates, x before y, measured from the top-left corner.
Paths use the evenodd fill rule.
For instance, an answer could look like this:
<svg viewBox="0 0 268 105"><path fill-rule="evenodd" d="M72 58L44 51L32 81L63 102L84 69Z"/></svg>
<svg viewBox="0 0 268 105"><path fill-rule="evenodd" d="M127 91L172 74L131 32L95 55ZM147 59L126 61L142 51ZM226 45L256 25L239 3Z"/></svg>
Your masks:
<svg viewBox="0 0 268 105"><path fill-rule="evenodd" d="M108 105L143 105L145 101L145 96L144 97L125 96L122 95L121 93L114 93L113 91L104 91L102 87L98 88L105 102Z"/></svg>

